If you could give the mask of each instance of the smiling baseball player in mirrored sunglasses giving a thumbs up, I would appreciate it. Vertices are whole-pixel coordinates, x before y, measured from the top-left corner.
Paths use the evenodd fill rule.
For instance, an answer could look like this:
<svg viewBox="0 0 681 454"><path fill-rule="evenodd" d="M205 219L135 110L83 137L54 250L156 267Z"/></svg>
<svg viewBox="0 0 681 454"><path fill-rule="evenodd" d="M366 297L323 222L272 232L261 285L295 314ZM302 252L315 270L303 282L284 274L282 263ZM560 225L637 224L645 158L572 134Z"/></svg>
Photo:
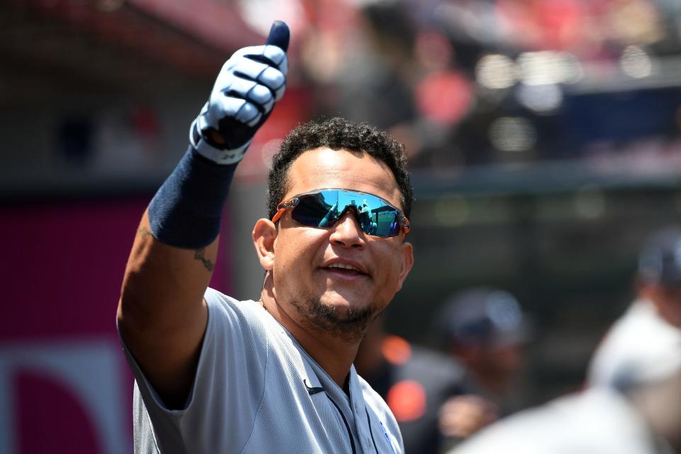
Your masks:
<svg viewBox="0 0 681 454"><path fill-rule="evenodd" d="M294 129L270 170L269 216L253 228L260 299L206 288L231 177L284 93L288 41L275 22L266 45L226 62L140 222L117 317L135 375L136 453L404 450L352 365L413 263L402 145L341 118ZM394 215L374 233L359 220L364 199Z"/></svg>

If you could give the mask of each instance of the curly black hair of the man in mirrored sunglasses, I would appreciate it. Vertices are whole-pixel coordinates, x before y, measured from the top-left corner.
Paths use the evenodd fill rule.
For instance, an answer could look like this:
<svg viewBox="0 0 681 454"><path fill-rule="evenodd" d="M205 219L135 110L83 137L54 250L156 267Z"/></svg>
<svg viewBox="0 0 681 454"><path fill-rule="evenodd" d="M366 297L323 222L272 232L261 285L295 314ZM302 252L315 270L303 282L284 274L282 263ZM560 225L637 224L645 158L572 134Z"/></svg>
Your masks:
<svg viewBox="0 0 681 454"><path fill-rule="evenodd" d="M282 142L272 159L272 168L267 177L267 209L270 219L277 213L277 205L284 198L289 187L288 171L294 160L307 150L315 148L332 150L361 151L382 160L392 170L399 186L404 215L409 217L414 189L406 170L404 145L397 142L385 131L368 123L353 123L345 118L335 117L326 121L310 121L291 131Z"/></svg>

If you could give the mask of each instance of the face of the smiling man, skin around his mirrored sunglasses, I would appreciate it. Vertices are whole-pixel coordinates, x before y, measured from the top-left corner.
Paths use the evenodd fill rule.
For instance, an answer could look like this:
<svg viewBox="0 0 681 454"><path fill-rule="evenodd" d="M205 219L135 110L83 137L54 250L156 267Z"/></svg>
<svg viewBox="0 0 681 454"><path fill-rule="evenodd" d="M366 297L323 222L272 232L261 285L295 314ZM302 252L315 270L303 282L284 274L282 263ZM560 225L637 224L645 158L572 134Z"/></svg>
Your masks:
<svg viewBox="0 0 681 454"><path fill-rule="evenodd" d="M403 209L389 167L365 153L306 151L293 162L288 181L284 199L316 189L350 189ZM350 211L331 228L303 226L287 211L279 221L274 254L274 294L282 309L301 326L356 341L402 288L413 262L404 233L368 236Z"/></svg>

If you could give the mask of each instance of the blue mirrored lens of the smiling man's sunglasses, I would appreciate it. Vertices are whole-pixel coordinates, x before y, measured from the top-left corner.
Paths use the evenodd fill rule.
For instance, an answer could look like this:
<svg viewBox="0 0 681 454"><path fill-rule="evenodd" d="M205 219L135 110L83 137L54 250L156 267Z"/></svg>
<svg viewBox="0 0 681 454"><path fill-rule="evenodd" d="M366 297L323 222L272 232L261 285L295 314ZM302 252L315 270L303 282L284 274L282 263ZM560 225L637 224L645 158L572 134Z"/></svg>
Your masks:
<svg viewBox="0 0 681 454"><path fill-rule="evenodd" d="M304 194L299 196L291 215L305 226L331 227L347 209L357 216L360 228L367 235L389 238L401 231L397 209L377 196L362 192L331 189Z"/></svg>

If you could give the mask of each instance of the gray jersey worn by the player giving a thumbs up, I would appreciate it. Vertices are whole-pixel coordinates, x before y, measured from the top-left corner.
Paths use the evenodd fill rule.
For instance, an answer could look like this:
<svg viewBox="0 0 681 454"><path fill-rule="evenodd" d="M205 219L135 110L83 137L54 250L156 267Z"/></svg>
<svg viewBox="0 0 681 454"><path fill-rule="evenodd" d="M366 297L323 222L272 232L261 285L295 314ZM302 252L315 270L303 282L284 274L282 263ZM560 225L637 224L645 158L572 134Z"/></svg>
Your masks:
<svg viewBox="0 0 681 454"><path fill-rule="evenodd" d="M402 453L383 399L350 368L350 395L262 306L207 289L192 392L169 410L132 355L135 453Z"/></svg>

